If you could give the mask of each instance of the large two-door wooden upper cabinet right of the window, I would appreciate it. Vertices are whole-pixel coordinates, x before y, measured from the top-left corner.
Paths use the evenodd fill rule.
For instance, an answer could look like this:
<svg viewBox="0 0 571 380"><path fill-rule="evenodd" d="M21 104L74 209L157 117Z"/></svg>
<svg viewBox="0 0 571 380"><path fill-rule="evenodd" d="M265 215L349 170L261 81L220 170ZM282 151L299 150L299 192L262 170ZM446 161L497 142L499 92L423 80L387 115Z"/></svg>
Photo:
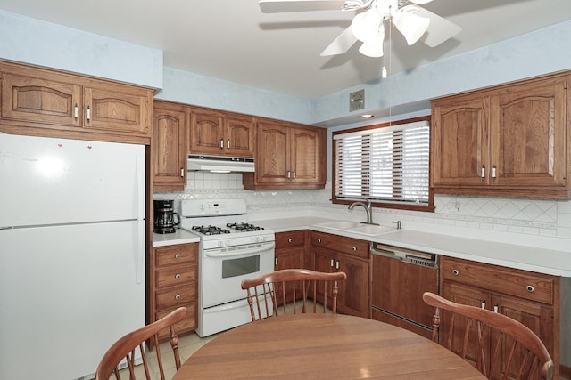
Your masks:
<svg viewBox="0 0 571 380"><path fill-rule="evenodd" d="M434 192L568 198L568 73L433 101Z"/></svg>

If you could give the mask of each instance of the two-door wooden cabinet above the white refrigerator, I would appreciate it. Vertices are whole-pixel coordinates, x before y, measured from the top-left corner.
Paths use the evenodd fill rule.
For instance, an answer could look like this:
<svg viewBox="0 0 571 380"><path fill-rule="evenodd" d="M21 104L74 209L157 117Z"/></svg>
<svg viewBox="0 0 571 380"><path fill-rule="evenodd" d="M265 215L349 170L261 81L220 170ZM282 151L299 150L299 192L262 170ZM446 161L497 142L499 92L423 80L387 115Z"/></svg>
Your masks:
<svg viewBox="0 0 571 380"><path fill-rule="evenodd" d="M152 89L8 62L0 73L1 125L151 135Z"/></svg>

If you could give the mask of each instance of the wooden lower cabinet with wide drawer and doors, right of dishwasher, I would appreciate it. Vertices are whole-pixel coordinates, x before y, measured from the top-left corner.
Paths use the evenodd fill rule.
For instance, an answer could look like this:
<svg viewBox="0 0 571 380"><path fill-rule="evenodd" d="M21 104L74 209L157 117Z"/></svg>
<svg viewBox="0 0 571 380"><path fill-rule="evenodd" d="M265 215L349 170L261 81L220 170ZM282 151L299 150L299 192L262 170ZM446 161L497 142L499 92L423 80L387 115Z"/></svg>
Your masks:
<svg viewBox="0 0 571 380"><path fill-rule="evenodd" d="M559 379L559 277L443 257L441 295L455 303L500 312L529 327L542 339L550 352L555 363L553 378ZM461 318L454 321L455 324L462 322ZM449 316L443 313L440 342L448 339L450 323ZM470 339L475 338L470 336ZM485 338L490 342L489 347L492 347L494 336ZM453 351L459 352L462 339L463 336L454 338ZM468 344L469 346L476 345ZM502 352L501 360L507 358L508 354L509 352ZM469 357L474 359L476 352L468 351ZM501 368L505 372L505 366L502 365Z"/></svg>

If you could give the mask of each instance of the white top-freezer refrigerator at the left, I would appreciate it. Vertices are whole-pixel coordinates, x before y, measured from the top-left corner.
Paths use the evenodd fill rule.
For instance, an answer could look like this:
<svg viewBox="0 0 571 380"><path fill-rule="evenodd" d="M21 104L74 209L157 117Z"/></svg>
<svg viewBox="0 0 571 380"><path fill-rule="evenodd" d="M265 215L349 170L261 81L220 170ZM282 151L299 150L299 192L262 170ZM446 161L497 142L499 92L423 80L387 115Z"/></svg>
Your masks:
<svg viewBox="0 0 571 380"><path fill-rule="evenodd" d="M145 146L0 133L0 378L95 374L145 326Z"/></svg>

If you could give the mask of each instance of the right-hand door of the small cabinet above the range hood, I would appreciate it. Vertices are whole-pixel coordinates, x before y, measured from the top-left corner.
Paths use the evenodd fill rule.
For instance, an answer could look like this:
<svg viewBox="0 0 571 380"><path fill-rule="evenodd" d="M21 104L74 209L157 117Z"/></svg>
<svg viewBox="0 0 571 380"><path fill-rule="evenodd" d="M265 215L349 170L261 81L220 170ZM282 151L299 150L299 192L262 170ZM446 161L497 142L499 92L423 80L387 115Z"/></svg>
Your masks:
<svg viewBox="0 0 571 380"><path fill-rule="evenodd" d="M227 115L225 118L225 139L228 155L253 157L254 123L252 117Z"/></svg>

